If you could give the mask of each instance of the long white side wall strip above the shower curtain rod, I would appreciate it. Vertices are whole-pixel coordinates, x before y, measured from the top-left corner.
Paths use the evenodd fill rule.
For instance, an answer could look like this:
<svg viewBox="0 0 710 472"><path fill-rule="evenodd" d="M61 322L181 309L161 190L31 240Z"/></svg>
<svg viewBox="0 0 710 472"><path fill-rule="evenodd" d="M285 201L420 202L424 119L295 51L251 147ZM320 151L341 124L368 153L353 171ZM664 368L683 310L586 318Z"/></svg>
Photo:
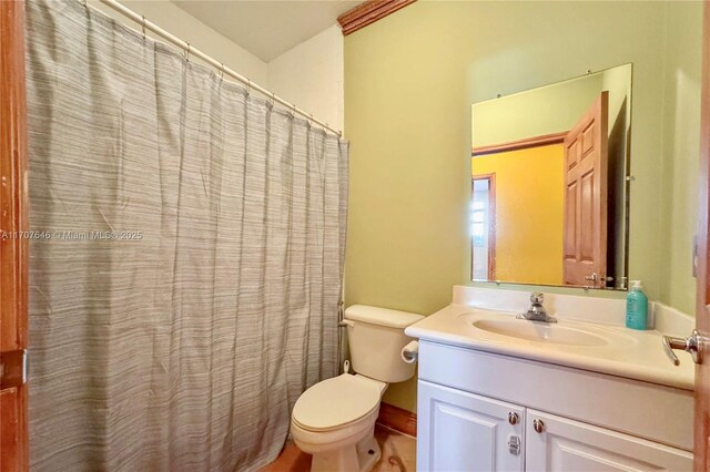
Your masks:
<svg viewBox="0 0 710 472"><path fill-rule="evenodd" d="M89 0L89 4L108 13L122 24L140 30L140 24L129 20L98 0ZM168 0L129 0L123 1L131 10L145 16L149 21L162 29L189 41L202 52L211 55L236 72L252 79L260 85L268 85L268 64L235 42L223 37L205 23L189 14ZM149 33L149 35L152 35Z"/></svg>

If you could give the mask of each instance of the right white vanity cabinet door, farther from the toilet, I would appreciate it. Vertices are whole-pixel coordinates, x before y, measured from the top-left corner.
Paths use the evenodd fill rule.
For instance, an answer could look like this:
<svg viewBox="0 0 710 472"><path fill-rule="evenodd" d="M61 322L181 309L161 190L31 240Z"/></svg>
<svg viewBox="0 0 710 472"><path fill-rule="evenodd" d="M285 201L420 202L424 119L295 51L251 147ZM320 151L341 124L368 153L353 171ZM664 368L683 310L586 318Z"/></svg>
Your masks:
<svg viewBox="0 0 710 472"><path fill-rule="evenodd" d="M690 452L530 409L525 453L527 472L692 470Z"/></svg>

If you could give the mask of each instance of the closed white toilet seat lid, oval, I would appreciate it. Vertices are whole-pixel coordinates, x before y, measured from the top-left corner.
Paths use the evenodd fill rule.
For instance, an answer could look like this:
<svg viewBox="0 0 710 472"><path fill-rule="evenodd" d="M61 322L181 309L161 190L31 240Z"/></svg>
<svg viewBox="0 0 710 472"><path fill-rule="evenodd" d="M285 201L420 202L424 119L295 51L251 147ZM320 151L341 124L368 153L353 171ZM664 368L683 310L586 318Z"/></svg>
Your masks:
<svg viewBox="0 0 710 472"><path fill-rule="evenodd" d="M292 421L307 431L332 431L379 408L379 382L343 373L307 389L296 401Z"/></svg>

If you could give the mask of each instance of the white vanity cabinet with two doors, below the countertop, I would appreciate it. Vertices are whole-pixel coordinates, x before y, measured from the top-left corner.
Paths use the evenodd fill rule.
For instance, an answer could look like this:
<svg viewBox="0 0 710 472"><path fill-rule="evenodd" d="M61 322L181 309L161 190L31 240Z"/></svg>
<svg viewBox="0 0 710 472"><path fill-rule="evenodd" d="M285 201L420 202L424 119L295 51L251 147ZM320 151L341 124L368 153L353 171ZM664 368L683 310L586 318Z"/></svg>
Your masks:
<svg viewBox="0 0 710 472"><path fill-rule="evenodd" d="M417 470L692 470L692 392L422 341Z"/></svg>

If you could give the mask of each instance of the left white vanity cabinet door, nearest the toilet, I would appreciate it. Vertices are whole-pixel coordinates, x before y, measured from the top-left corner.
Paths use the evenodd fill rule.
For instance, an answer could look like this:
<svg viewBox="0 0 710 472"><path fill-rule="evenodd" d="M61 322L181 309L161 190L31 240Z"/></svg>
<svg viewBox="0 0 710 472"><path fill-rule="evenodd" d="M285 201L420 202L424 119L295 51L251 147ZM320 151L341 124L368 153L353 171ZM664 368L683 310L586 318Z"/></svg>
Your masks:
<svg viewBox="0 0 710 472"><path fill-rule="evenodd" d="M418 398L417 471L524 470L524 408L423 380Z"/></svg>

